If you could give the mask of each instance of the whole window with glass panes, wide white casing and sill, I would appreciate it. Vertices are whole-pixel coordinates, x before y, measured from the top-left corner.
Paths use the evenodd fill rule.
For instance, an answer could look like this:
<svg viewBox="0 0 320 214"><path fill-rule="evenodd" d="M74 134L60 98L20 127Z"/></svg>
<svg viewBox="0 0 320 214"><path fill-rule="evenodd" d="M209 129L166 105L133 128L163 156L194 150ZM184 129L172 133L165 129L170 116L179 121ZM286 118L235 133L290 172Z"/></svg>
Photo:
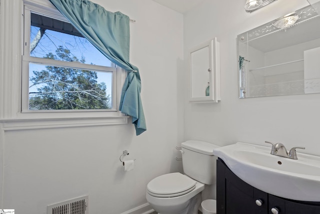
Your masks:
<svg viewBox="0 0 320 214"><path fill-rule="evenodd" d="M1 1L1 9L0 123L3 130L127 124L129 117L118 111L120 92L126 77L124 69L115 67L102 55L99 55L101 58L98 58L98 55L93 54L100 53L94 47L87 46L89 43L84 41L84 38L77 31L74 31L75 29L71 29L72 26L48 0ZM34 17L31 19L31 16ZM42 23L39 23L41 19ZM52 23L48 24L49 22ZM30 44L40 28L45 29L44 34L39 35L41 40L38 43L34 43L37 45L32 51ZM85 47L86 49L78 51L68 46L69 44L66 41L61 42L62 44L56 43L50 46L48 40L51 39L53 42L54 40L52 37L47 37L46 33L49 32L53 35L55 34L55 39L60 42L62 37L71 36L73 40L70 42L76 41L77 43L73 47ZM59 36L59 34L64 36ZM60 48L59 46L62 47ZM64 49L66 49L66 53L62 52L62 50L65 51ZM32 51L31 54L30 50ZM55 52L56 50L58 52ZM48 53L52 55L50 54L47 58L43 58ZM62 53L62 55L57 56L57 53ZM92 56L98 60L91 61ZM68 60L57 60L60 59L57 57ZM66 70L69 68L72 70ZM42 71L47 69L56 69L58 72L69 71L74 78L59 79L56 77L45 79L43 76L47 75L47 73L42 73ZM36 73L34 74L33 71ZM57 74L62 75L61 73ZM93 77L93 80L89 78L90 76ZM32 82L41 78L43 83ZM62 83L67 83L67 85L62 87L62 83L58 84L60 80L62 80ZM90 84L87 83L87 80L91 80ZM97 86L96 88L101 90L103 96L99 98L101 94L93 94L94 98L90 95L90 99L86 99L86 102L84 102L82 99L83 94L92 92L92 88L85 88L85 91L82 91L83 94L80 94L80 91L76 92L76 95L79 95L78 100L76 100L75 96L67 97L62 92L75 93L78 88L67 87L75 81L78 81L78 88L85 88L84 86L93 85L94 83ZM49 91L49 86L46 88L45 85L48 82L50 82L53 92L61 92L59 94L60 97L50 94L52 91ZM83 84L79 84L80 82ZM34 83L37 84L32 85ZM95 90L95 92L99 91ZM44 100L46 103L40 100L42 98L40 93L48 95ZM30 106L29 97L32 99ZM67 106L59 98L69 101L70 105ZM51 101L59 105L54 106ZM5 122L2 123L3 121Z"/></svg>

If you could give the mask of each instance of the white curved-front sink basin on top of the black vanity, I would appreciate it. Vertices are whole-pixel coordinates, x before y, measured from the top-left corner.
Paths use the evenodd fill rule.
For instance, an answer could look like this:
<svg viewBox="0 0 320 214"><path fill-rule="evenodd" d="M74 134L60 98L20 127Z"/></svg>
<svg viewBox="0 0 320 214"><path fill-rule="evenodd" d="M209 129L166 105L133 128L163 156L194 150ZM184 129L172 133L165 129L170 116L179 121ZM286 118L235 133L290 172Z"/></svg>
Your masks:
<svg viewBox="0 0 320 214"><path fill-rule="evenodd" d="M270 154L271 147L235 143L213 150L251 186L293 200L320 201L320 157L297 152L297 160Z"/></svg>

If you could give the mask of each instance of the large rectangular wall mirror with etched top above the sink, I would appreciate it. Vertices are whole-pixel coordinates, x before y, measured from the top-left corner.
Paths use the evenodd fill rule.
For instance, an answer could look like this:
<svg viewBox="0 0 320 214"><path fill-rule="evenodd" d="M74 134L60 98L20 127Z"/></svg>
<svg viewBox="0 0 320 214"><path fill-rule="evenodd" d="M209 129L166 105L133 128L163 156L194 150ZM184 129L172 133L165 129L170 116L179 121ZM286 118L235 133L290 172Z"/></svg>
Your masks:
<svg viewBox="0 0 320 214"><path fill-rule="evenodd" d="M320 92L320 17L311 6L237 36L239 98Z"/></svg>

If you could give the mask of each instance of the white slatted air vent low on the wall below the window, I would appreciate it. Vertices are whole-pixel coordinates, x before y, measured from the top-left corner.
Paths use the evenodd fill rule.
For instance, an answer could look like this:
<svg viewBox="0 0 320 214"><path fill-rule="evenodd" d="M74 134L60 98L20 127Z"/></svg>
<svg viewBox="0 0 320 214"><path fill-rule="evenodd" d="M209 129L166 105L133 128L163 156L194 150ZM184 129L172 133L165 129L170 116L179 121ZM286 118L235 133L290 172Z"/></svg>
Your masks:
<svg viewBox="0 0 320 214"><path fill-rule="evenodd" d="M47 206L47 214L88 214L88 195Z"/></svg>

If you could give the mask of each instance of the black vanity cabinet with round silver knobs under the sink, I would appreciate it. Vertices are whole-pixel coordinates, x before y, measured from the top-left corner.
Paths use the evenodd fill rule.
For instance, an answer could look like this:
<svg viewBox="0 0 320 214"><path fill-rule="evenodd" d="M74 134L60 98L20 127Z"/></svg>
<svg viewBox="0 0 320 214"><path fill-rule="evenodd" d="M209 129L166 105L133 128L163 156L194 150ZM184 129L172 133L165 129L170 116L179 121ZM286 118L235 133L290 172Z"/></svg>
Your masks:
<svg viewBox="0 0 320 214"><path fill-rule="evenodd" d="M217 214L320 214L320 202L290 200L263 192L237 177L220 158L216 170Z"/></svg>

